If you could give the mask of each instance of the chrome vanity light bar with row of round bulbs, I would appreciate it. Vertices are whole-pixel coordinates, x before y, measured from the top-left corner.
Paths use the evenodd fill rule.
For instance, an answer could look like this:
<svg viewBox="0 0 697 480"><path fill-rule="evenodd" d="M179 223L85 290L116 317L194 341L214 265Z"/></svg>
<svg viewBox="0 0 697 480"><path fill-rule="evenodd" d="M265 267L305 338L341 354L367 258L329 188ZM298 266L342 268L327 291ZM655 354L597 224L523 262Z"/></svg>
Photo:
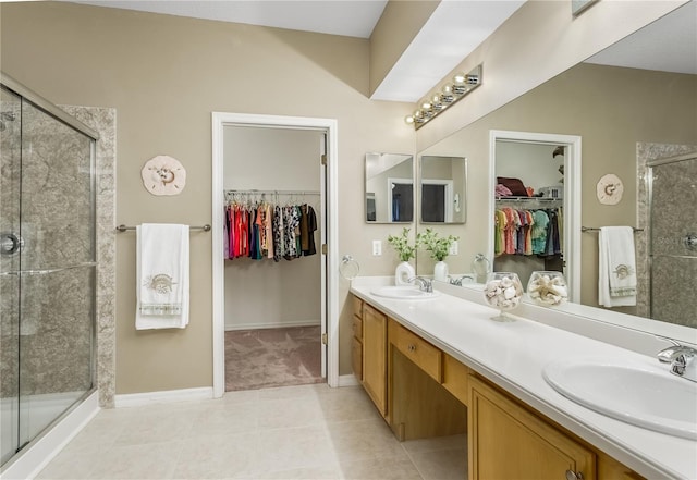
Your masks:
<svg viewBox="0 0 697 480"><path fill-rule="evenodd" d="M440 91L419 102L419 108L413 114L407 115L404 121L409 125L414 125L414 130L419 130L448 107L469 95L479 85L481 85L481 65L475 66L466 74L457 73L453 76L452 82L445 84Z"/></svg>

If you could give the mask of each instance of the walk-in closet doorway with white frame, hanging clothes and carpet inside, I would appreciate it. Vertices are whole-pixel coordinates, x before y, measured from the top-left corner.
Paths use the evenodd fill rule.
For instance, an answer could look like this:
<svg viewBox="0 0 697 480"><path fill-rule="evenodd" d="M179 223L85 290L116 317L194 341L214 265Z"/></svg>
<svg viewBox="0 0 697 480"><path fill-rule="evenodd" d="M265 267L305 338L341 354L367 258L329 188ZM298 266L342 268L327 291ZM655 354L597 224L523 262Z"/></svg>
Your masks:
<svg viewBox="0 0 697 480"><path fill-rule="evenodd" d="M335 121L212 122L215 396L335 386L337 268L322 249L335 244Z"/></svg>

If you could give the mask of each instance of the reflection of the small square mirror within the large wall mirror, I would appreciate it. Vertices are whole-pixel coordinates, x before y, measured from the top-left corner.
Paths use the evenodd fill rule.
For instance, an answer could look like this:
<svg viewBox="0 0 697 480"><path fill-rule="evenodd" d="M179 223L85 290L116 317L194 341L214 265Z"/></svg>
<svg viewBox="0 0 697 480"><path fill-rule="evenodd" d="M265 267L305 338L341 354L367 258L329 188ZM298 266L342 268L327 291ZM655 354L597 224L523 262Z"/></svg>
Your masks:
<svg viewBox="0 0 697 480"><path fill-rule="evenodd" d="M421 223L465 223L467 219L467 159L420 157Z"/></svg>

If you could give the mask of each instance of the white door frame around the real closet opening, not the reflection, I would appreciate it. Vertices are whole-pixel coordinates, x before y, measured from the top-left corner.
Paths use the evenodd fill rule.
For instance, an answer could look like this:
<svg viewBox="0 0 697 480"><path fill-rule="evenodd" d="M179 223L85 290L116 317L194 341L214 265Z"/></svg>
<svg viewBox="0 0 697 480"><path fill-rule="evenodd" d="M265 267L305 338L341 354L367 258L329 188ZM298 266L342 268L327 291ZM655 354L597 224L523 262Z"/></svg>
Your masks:
<svg viewBox="0 0 697 480"><path fill-rule="evenodd" d="M225 292L224 292L224 185L223 128L225 125L317 128L327 132L327 383L339 386L339 262L338 262L338 122L335 119L277 116L212 112L212 353L213 397L225 392ZM319 165L318 165L319 167Z"/></svg>

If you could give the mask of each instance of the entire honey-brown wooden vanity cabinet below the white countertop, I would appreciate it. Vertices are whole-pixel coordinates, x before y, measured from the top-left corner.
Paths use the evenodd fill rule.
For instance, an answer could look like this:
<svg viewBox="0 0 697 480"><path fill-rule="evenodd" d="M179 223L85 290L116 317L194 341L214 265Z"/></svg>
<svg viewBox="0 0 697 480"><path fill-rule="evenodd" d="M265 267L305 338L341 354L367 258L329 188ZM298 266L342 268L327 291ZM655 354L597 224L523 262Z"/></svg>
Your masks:
<svg viewBox="0 0 697 480"><path fill-rule="evenodd" d="M469 480L646 480L357 297L353 312L353 369L382 417L400 440L467 432Z"/></svg>

